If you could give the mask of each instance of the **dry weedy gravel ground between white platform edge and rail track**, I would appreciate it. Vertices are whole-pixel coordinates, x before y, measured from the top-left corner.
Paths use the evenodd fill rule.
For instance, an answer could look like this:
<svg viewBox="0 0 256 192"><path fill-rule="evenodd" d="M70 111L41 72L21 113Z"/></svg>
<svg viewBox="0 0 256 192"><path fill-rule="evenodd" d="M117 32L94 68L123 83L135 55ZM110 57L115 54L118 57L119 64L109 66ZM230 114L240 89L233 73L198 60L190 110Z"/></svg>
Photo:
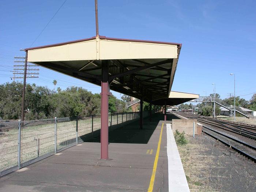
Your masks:
<svg viewBox="0 0 256 192"><path fill-rule="evenodd" d="M256 191L256 163L208 135L186 138L178 150L191 192Z"/></svg>

